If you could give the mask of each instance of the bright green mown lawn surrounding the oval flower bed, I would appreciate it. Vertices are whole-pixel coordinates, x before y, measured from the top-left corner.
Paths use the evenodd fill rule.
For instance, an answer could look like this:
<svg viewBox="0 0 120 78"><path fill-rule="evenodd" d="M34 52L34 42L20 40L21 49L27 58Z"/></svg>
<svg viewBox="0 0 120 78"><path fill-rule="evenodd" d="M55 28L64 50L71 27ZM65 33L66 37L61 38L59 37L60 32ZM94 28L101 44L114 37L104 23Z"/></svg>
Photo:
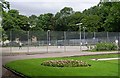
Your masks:
<svg viewBox="0 0 120 78"><path fill-rule="evenodd" d="M39 76L118 76L118 60L94 61L93 58L112 58L118 54L59 57L59 58L37 58L27 60L17 60L7 63L5 66L28 77ZM48 67L41 63L46 60L73 59L82 60L91 64L90 67Z"/></svg>

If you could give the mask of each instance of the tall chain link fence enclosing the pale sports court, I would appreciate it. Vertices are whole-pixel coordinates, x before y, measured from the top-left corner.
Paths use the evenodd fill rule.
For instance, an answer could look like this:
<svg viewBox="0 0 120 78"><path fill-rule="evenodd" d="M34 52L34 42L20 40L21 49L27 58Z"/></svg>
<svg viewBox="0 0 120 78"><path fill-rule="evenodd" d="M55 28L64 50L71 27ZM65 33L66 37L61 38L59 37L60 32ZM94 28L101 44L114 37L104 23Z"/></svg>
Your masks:
<svg viewBox="0 0 120 78"><path fill-rule="evenodd" d="M82 52L97 43L110 42L120 46L120 32L71 31L7 31L1 41L3 53ZM119 44L119 45L118 45Z"/></svg>

